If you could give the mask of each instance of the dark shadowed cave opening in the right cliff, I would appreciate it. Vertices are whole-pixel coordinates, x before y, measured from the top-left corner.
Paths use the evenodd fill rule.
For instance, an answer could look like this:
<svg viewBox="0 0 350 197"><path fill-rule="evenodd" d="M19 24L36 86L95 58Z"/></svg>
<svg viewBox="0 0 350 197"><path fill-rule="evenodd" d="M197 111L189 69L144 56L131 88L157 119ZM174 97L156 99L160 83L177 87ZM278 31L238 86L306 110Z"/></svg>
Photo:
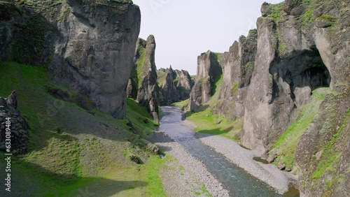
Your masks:
<svg viewBox="0 0 350 197"><path fill-rule="evenodd" d="M288 57L279 59L270 69L270 73L274 76L273 92L279 94L279 89L286 89L278 82L280 78L289 85L290 97L297 108L311 101L314 89L330 87L330 72L316 46L309 50L291 52Z"/></svg>

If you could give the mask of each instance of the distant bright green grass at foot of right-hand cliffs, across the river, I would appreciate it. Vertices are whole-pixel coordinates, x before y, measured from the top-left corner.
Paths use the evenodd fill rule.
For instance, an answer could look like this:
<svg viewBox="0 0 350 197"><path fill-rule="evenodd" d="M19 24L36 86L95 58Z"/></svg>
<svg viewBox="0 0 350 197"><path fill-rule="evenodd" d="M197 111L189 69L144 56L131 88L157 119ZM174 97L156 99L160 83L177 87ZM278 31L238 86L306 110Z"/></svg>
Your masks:
<svg viewBox="0 0 350 197"><path fill-rule="evenodd" d="M218 96L221 90L221 83L223 82L223 76L216 82L216 91L211 99L202 105L202 111L200 112L188 112L186 117L190 122L195 123L198 127L195 131L202 133L211 133L214 135L224 136L232 140L239 141L241 126L243 124L242 119L236 119L234 122L230 122L223 117L213 115L211 108L214 108L218 103ZM184 101L183 101L184 102ZM174 103L174 105L180 106L181 103Z"/></svg>

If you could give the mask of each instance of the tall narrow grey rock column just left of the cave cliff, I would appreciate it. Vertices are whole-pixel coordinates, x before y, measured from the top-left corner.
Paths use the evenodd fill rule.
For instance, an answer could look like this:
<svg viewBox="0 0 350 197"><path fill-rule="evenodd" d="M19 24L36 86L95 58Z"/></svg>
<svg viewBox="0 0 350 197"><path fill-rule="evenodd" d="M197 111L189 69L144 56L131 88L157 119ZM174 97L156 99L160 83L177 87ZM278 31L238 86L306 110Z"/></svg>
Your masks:
<svg viewBox="0 0 350 197"><path fill-rule="evenodd" d="M229 52L225 52L218 115L229 119L244 115L243 102L254 70L257 38L258 31L252 29L247 37L241 36L239 42L235 41Z"/></svg>

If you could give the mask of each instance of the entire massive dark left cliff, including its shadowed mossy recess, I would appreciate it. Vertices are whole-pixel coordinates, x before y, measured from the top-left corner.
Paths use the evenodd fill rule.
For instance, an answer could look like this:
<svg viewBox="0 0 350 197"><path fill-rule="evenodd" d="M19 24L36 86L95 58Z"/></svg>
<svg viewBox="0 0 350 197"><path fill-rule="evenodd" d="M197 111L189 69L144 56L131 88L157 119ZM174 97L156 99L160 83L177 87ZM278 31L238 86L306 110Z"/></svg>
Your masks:
<svg viewBox="0 0 350 197"><path fill-rule="evenodd" d="M43 9L45 8L45 9ZM58 84L87 96L116 118L126 112L126 87L141 14L132 1L22 1L1 20L0 57L49 65Z"/></svg>

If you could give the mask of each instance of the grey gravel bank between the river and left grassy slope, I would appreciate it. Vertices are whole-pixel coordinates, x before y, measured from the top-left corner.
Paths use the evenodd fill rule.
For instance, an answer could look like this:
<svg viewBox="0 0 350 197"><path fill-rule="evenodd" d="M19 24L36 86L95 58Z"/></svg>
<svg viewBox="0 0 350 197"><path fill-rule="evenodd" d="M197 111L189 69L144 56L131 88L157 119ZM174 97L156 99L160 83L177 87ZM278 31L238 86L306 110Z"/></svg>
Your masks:
<svg viewBox="0 0 350 197"><path fill-rule="evenodd" d="M204 164L191 156L179 143L161 131L151 138L155 145L172 155L177 161L165 163L169 168L160 172L162 186L167 196L229 196ZM205 192L205 189L207 192Z"/></svg>

